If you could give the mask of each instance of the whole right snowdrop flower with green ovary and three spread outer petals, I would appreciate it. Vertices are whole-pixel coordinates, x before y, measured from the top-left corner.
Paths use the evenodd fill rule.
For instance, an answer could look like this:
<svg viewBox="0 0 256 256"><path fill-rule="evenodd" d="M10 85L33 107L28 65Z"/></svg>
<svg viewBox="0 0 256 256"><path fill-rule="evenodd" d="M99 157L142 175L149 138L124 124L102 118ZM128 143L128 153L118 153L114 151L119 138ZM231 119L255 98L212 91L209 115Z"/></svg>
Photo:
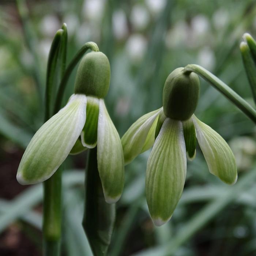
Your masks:
<svg viewBox="0 0 256 256"><path fill-rule="evenodd" d="M200 83L193 72L175 69L163 88L163 107L140 117L121 139L125 164L153 146L147 162L146 198L157 226L172 217L180 200L187 159L196 154L196 138L212 174L227 184L237 180L234 155L225 140L193 114Z"/></svg>

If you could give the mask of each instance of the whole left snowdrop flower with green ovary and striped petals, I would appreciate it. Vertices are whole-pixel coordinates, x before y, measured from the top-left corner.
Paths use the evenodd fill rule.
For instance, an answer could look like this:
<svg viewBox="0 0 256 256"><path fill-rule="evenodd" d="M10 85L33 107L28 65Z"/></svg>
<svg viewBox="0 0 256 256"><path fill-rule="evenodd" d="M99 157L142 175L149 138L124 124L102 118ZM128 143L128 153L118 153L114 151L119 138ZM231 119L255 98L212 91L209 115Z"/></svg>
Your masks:
<svg viewBox="0 0 256 256"><path fill-rule="evenodd" d="M99 176L106 202L116 202L124 186L124 157L120 137L108 114L104 97L110 65L102 52L80 61L75 93L67 105L35 133L21 159L17 180L35 184L47 180L68 154L97 146Z"/></svg>

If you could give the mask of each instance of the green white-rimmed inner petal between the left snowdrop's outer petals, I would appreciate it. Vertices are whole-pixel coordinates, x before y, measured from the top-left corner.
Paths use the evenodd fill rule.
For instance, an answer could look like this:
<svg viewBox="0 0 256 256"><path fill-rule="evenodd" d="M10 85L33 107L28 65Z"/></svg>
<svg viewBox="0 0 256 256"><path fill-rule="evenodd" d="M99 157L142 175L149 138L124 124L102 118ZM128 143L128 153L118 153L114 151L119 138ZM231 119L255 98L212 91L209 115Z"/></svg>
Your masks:
<svg viewBox="0 0 256 256"><path fill-rule="evenodd" d="M86 122L81 132L81 141L84 147L94 148L97 145L98 116L99 99L87 96Z"/></svg>

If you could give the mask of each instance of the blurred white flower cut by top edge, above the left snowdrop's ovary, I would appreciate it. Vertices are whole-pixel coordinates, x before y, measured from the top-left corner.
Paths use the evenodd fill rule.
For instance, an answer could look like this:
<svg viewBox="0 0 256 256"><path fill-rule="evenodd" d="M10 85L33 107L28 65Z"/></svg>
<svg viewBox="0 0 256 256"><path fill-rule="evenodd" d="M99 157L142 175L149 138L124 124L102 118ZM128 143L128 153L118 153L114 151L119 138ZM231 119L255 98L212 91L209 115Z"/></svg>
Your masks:
<svg viewBox="0 0 256 256"><path fill-rule="evenodd" d="M91 20L101 20L105 8L105 0L85 0L83 16Z"/></svg>

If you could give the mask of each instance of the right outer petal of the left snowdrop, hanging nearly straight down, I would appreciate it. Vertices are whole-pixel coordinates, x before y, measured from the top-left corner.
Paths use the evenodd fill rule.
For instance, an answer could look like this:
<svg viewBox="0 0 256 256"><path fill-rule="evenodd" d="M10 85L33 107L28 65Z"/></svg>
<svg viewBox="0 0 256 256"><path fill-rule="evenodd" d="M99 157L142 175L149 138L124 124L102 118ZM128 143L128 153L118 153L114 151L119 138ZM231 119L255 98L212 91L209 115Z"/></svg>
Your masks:
<svg viewBox="0 0 256 256"><path fill-rule="evenodd" d="M103 99L99 99L97 160L105 200L115 203L124 188L124 155L120 137Z"/></svg>

